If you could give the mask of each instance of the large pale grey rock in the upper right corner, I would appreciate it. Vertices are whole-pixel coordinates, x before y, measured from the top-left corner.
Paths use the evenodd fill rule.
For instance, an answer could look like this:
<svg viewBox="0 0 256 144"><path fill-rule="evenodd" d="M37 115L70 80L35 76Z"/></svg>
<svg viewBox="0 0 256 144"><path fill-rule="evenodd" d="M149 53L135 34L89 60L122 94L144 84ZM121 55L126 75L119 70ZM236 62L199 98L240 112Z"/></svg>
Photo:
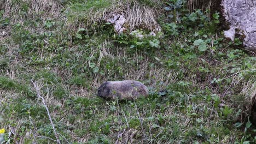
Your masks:
<svg viewBox="0 0 256 144"><path fill-rule="evenodd" d="M226 37L234 40L235 34L243 35L243 45L256 50L256 1L223 0L224 16L230 23Z"/></svg>

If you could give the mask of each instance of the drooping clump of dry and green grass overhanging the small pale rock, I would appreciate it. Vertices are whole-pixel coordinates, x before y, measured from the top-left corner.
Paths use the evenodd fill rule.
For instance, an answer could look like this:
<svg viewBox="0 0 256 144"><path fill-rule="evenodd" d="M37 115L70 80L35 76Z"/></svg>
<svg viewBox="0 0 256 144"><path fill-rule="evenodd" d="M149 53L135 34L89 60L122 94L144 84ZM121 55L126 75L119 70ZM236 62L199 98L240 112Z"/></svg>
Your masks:
<svg viewBox="0 0 256 144"><path fill-rule="evenodd" d="M93 26L106 21L113 13L125 15L126 29L149 29L156 31L159 28L158 17L161 14L160 3L155 0L152 7L136 0L102 1L97 3L74 4L67 10L68 28L71 32L78 28L94 28ZM79 8L80 7L80 8Z"/></svg>

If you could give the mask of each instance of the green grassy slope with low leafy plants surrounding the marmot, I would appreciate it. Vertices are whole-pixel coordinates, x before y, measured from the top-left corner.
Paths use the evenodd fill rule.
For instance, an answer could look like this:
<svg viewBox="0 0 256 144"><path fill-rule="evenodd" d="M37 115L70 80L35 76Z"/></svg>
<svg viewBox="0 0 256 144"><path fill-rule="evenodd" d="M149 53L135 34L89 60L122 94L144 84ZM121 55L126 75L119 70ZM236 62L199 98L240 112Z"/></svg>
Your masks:
<svg viewBox="0 0 256 144"><path fill-rule="evenodd" d="M11 132L6 135L11 142L55 140L31 80L62 143L254 141L244 107L253 93L255 57L237 50L238 40L228 43L217 34L214 22L199 11L177 24L160 19L165 35L141 40L117 35L106 23L74 32L87 19L82 16L87 8L79 8L85 3L63 3L59 16L51 15L52 9L33 13L33 5L23 4L15 7L19 15L10 10L0 20L7 33L0 41L0 129ZM96 6L106 10L101 4ZM187 13L185 7L180 11ZM199 39L205 52L194 46ZM149 97L119 102L96 97L102 82L127 79L147 85ZM158 93L164 88L167 94ZM237 122L243 125L236 128Z"/></svg>

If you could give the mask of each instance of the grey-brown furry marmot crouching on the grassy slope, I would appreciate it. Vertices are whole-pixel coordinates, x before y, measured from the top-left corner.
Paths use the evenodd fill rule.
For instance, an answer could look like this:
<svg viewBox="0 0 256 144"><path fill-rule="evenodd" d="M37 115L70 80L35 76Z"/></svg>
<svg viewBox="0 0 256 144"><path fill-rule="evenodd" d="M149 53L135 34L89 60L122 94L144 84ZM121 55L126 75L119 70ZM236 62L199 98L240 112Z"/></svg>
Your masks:
<svg viewBox="0 0 256 144"><path fill-rule="evenodd" d="M133 100L147 97L148 88L139 81L107 81L97 89L97 95L106 99Z"/></svg>

